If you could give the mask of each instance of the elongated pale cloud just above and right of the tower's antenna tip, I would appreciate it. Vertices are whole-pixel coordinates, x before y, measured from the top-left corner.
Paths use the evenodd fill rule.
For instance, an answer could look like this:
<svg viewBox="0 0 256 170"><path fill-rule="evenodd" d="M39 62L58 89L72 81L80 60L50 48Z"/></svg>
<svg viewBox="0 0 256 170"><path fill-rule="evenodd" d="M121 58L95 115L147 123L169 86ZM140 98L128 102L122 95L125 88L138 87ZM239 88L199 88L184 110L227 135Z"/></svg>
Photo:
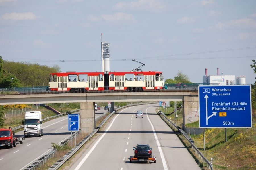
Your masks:
<svg viewBox="0 0 256 170"><path fill-rule="evenodd" d="M115 13L113 15L102 15L102 18L109 22L116 22L116 21L132 21L134 22L135 19L132 14L127 13Z"/></svg>

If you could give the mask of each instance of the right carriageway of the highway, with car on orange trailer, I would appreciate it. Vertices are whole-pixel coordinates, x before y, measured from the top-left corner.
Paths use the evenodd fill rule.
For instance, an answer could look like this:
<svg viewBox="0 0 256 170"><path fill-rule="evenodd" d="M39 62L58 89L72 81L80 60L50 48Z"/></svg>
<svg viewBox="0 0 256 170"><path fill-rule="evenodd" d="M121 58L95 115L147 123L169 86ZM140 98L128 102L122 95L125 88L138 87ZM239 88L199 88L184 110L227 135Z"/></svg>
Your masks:
<svg viewBox="0 0 256 170"><path fill-rule="evenodd" d="M199 166L183 146L176 134L156 114L156 104L132 106L115 114L106 129L77 155L73 165L65 169L196 169ZM135 112L142 110L143 118L135 118ZM133 147L149 144L156 163L132 162Z"/></svg>

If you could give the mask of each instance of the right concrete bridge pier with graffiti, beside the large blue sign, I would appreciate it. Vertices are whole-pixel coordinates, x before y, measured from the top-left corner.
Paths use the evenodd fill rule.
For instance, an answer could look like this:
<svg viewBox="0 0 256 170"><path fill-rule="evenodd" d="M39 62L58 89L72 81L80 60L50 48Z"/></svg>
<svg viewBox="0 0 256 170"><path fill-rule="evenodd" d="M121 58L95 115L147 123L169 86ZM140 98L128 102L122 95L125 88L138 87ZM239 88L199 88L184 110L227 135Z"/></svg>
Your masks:
<svg viewBox="0 0 256 170"><path fill-rule="evenodd" d="M198 96L184 96L183 100L183 125L184 129L185 124L192 123L199 120L198 115Z"/></svg>

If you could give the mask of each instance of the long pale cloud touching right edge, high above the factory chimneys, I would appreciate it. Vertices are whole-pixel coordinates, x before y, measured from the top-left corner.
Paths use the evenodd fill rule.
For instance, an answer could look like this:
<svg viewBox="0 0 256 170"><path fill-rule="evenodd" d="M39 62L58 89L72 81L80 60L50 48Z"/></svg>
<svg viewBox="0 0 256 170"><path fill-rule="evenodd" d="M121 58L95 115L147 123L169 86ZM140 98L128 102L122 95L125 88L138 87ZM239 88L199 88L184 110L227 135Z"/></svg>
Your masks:
<svg viewBox="0 0 256 170"><path fill-rule="evenodd" d="M256 20L253 18L241 18L238 20L231 20L226 23L219 22L215 26L211 26L210 29L223 30L230 27L256 28Z"/></svg>

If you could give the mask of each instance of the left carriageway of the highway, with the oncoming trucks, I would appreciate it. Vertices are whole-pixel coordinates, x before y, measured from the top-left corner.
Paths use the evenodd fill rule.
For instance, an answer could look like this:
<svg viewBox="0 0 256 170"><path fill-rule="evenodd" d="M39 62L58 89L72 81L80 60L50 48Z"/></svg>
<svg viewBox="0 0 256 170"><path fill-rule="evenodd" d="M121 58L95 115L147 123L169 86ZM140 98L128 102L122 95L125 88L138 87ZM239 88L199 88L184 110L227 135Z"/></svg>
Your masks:
<svg viewBox="0 0 256 170"><path fill-rule="evenodd" d="M97 118L107 110L95 112ZM44 135L42 137L25 138L23 144L16 147L0 148L0 167L4 169L23 169L34 159L42 156L51 149L51 143L59 143L71 135L68 131L67 116L59 117L43 123ZM80 125L79 125L80 127ZM14 136L24 136L24 131L15 133Z"/></svg>

